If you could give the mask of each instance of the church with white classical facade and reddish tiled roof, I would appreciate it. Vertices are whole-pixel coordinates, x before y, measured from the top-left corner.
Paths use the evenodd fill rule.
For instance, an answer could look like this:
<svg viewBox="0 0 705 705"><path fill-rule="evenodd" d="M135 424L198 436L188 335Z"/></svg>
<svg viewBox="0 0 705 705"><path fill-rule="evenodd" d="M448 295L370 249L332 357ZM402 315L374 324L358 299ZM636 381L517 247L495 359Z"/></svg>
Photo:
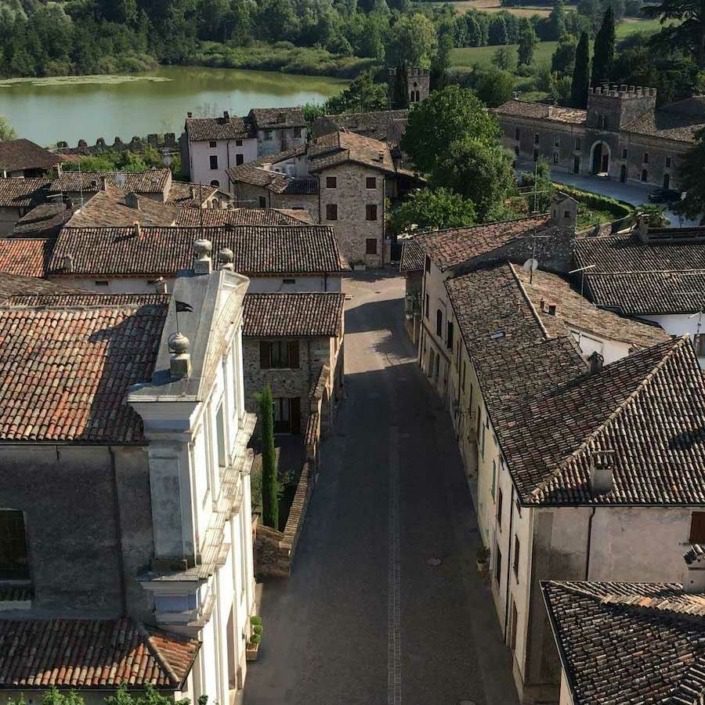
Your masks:
<svg viewBox="0 0 705 705"><path fill-rule="evenodd" d="M255 609L248 281L194 247L172 295L0 306L7 695L55 685L97 703L126 674L137 692L192 702L242 694Z"/></svg>

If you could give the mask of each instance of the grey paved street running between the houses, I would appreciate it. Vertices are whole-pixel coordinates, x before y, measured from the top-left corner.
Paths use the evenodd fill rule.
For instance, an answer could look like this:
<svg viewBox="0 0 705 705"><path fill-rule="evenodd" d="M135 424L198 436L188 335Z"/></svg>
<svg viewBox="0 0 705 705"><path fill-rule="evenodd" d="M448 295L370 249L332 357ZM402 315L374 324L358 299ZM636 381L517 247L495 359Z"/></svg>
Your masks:
<svg viewBox="0 0 705 705"><path fill-rule="evenodd" d="M246 705L514 705L448 415L403 280L348 280L346 390L288 581L265 585Z"/></svg>

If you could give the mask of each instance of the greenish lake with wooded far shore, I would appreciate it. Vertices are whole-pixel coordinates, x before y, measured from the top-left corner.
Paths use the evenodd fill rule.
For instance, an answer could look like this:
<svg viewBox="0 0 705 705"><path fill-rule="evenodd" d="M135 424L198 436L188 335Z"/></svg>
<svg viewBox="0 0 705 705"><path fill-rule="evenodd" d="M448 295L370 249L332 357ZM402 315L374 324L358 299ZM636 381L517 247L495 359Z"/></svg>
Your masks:
<svg viewBox="0 0 705 705"><path fill-rule="evenodd" d="M273 71L163 66L146 74L0 80L0 115L19 137L75 146L183 130L194 115L322 103L346 81Z"/></svg>

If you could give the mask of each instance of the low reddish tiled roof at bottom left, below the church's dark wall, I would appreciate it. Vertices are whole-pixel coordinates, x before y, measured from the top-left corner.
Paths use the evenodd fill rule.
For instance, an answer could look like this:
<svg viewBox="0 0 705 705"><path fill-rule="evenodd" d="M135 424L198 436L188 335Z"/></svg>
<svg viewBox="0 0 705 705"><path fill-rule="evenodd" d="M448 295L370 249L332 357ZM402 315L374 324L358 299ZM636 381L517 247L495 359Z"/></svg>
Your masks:
<svg viewBox="0 0 705 705"><path fill-rule="evenodd" d="M151 685L178 690L197 639L130 619L0 620L0 688L115 689Z"/></svg>

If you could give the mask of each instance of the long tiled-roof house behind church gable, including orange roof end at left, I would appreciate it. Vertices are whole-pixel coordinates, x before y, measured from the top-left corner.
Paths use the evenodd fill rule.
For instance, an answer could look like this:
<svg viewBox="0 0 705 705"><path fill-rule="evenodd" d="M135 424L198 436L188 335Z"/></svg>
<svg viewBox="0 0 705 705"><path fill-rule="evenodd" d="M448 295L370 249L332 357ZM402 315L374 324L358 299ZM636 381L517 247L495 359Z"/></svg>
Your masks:
<svg viewBox="0 0 705 705"><path fill-rule="evenodd" d="M348 270L331 228L65 227L56 240L0 240L0 272L38 276L79 289L135 294L171 291L206 238L215 258L250 278L249 291L339 292Z"/></svg>

